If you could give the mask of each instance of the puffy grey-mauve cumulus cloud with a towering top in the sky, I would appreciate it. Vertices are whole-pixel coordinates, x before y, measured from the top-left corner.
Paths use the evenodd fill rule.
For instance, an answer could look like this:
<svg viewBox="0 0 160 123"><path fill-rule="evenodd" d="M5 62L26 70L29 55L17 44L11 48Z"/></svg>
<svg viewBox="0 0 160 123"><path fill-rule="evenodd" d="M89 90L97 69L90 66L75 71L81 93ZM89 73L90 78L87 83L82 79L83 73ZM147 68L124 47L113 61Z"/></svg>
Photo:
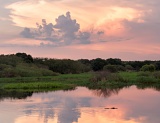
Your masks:
<svg viewBox="0 0 160 123"><path fill-rule="evenodd" d="M89 44L93 32L80 31L80 24L71 18L70 12L66 15L60 15L55 19L55 24L47 23L42 19L42 23L36 23L37 28L24 28L20 33L24 38L34 38L38 40L48 40L48 45L63 46L71 44ZM104 32L98 31L97 35L103 35ZM41 43L41 45L44 45Z"/></svg>

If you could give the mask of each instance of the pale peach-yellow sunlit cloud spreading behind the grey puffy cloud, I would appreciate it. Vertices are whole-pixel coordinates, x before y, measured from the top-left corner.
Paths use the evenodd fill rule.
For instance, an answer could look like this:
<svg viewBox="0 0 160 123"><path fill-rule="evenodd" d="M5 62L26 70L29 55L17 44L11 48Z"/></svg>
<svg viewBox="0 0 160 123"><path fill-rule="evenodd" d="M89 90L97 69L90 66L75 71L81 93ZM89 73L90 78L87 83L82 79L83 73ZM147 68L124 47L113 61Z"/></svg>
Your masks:
<svg viewBox="0 0 160 123"><path fill-rule="evenodd" d="M27 27L34 27L35 22L39 22L42 18L52 20L62 13L70 11L73 18L76 18L81 24L81 29L89 25L99 26L116 19L134 20L135 18L141 18L141 15L146 11L143 9L144 7L137 9L135 2L123 2L123 0L118 2L117 0L36 0L34 2L25 0L11 4L7 8L11 9L10 16L17 26L26 27L27 25ZM30 19L25 19L23 16Z"/></svg>

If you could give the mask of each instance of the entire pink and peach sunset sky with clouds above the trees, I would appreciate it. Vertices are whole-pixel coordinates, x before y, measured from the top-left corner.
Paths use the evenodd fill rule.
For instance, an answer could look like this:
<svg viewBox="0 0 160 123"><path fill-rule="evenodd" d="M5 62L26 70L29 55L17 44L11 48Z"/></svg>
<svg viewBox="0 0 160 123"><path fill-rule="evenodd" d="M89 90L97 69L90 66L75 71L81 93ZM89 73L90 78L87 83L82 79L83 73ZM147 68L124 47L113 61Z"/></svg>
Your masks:
<svg viewBox="0 0 160 123"><path fill-rule="evenodd" d="M0 0L0 54L160 60L159 0Z"/></svg>

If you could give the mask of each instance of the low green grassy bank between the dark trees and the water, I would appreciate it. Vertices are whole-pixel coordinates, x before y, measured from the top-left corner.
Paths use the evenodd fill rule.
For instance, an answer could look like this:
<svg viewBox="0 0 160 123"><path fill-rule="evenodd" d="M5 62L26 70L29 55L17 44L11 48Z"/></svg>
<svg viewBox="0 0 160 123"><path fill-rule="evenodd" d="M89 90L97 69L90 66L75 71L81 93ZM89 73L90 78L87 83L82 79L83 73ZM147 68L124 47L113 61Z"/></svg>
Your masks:
<svg viewBox="0 0 160 123"><path fill-rule="evenodd" d="M148 85L159 88L160 72L96 72L48 77L0 78L0 88L5 90L64 90L74 89L76 86L103 89L131 85L139 87Z"/></svg>

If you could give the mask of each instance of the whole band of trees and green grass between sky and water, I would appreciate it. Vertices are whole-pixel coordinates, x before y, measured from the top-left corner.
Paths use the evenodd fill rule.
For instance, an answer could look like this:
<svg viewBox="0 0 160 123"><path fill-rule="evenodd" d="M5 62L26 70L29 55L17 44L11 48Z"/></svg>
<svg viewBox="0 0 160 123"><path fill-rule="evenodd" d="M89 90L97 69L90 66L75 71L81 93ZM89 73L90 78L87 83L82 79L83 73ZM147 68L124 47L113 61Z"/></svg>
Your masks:
<svg viewBox="0 0 160 123"><path fill-rule="evenodd" d="M160 85L160 61L33 58L26 53L0 55L0 88L47 91Z"/></svg>

